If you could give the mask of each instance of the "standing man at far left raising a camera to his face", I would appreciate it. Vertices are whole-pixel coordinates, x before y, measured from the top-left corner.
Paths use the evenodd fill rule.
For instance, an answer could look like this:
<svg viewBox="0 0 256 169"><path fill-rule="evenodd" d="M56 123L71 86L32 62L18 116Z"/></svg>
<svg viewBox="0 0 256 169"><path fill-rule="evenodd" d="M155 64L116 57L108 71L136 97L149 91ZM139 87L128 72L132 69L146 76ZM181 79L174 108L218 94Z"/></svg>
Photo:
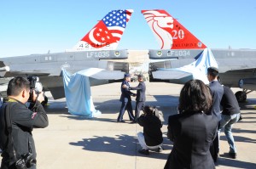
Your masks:
<svg viewBox="0 0 256 169"><path fill-rule="evenodd" d="M36 168L36 149L32 138L33 128L44 128L49 124L41 104L44 93L31 91L31 82L24 77L10 80L7 98L0 109L1 169ZM30 93L32 92L32 93ZM26 102L32 95L29 108Z"/></svg>

